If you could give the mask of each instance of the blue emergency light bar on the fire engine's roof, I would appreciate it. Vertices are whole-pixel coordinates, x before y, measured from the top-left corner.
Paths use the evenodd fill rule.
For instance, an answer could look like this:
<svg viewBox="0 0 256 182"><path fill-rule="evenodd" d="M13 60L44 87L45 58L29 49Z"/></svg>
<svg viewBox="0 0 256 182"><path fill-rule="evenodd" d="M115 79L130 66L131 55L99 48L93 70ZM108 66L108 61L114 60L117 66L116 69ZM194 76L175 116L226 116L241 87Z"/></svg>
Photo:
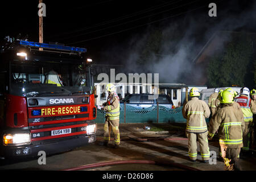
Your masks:
<svg viewBox="0 0 256 182"><path fill-rule="evenodd" d="M19 44L21 46L59 49L59 50L64 50L64 51L86 52L86 48L69 47L69 46L62 46L62 45L58 45L58 44L45 44L45 43L38 43L38 42L28 42L28 41L24 41L24 40L20 40Z"/></svg>

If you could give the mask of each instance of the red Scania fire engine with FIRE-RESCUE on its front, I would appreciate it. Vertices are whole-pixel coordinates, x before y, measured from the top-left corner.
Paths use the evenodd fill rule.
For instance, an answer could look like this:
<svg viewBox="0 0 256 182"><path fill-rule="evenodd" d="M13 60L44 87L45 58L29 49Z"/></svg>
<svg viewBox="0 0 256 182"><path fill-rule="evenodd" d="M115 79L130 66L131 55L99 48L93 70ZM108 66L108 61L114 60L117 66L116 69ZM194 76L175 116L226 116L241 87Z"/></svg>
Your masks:
<svg viewBox="0 0 256 182"><path fill-rule="evenodd" d="M18 40L1 49L0 156L55 154L96 140L85 48Z"/></svg>

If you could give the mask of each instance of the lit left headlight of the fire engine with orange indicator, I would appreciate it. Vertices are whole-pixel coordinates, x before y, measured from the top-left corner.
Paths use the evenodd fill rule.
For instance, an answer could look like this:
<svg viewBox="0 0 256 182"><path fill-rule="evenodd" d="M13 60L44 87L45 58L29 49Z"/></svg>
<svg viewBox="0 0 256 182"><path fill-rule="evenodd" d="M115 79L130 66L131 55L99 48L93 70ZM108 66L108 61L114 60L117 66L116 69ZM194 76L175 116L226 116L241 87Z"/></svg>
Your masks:
<svg viewBox="0 0 256 182"><path fill-rule="evenodd" d="M5 134L3 135L4 144L29 144L31 142L29 133L19 133L19 134Z"/></svg>

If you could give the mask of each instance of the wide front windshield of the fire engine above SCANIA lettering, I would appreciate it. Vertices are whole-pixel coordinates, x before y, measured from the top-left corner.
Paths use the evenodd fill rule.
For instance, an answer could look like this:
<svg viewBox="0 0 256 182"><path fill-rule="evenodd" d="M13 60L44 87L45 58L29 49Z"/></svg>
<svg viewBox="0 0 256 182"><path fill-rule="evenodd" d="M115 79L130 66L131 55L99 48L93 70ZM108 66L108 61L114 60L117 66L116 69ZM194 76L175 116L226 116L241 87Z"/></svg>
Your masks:
<svg viewBox="0 0 256 182"><path fill-rule="evenodd" d="M84 64L17 61L11 64L10 92L25 97L86 94L90 91L86 75Z"/></svg>

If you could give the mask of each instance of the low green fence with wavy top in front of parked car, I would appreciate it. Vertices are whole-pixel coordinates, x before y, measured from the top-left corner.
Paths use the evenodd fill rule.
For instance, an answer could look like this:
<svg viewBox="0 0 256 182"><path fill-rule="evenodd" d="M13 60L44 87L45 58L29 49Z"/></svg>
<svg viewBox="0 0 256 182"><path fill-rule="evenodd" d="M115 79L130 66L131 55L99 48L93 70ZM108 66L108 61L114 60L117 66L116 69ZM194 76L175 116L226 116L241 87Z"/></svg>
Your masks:
<svg viewBox="0 0 256 182"><path fill-rule="evenodd" d="M151 106L146 109L137 109L129 105L120 105L120 123L185 123L182 115L182 106L168 109L164 106ZM97 109L96 123L105 122L104 111Z"/></svg>

